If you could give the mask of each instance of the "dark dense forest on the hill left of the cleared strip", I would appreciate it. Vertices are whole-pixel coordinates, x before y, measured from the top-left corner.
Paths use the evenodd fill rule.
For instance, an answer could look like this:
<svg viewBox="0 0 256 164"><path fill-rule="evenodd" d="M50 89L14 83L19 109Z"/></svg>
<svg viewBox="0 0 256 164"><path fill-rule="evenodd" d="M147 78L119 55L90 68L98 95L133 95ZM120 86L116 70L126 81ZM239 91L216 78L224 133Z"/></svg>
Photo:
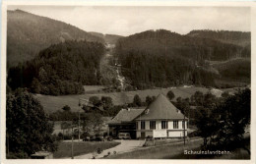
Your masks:
<svg viewBox="0 0 256 164"><path fill-rule="evenodd" d="M83 84L99 84L98 67L104 51L104 46L97 42L51 45L31 61L10 68L8 85L50 95L82 93Z"/></svg>

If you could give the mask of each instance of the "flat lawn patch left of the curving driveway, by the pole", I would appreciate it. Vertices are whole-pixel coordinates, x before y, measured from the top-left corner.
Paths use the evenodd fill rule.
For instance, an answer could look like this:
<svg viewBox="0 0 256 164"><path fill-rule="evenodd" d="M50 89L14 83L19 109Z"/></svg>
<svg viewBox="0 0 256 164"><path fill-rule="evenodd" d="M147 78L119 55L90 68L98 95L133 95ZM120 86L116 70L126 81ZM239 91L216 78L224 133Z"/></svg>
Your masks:
<svg viewBox="0 0 256 164"><path fill-rule="evenodd" d="M71 141L61 141L58 150L53 153L53 158L71 157ZM87 154L96 151L99 147L102 150L120 144L116 141L74 141L74 156Z"/></svg>

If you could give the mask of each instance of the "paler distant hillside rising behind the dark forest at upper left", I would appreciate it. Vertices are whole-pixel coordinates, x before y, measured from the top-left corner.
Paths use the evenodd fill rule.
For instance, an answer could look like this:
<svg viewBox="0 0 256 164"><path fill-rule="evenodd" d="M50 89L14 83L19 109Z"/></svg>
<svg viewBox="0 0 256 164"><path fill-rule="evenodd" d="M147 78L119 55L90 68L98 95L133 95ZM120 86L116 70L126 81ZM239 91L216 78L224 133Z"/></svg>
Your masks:
<svg viewBox="0 0 256 164"><path fill-rule="evenodd" d="M100 37L56 20L21 10L7 12L7 65L31 60L40 50L65 40L103 43Z"/></svg>

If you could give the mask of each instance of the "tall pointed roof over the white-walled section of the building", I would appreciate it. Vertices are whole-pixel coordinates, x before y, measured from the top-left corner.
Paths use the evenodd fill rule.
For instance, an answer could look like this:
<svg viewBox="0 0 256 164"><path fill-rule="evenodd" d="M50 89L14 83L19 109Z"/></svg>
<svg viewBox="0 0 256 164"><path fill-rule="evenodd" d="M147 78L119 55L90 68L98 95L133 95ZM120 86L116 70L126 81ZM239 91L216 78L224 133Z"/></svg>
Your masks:
<svg viewBox="0 0 256 164"><path fill-rule="evenodd" d="M176 119L184 119L184 115L179 112L179 110L167 99L167 97L160 94L136 120Z"/></svg>

